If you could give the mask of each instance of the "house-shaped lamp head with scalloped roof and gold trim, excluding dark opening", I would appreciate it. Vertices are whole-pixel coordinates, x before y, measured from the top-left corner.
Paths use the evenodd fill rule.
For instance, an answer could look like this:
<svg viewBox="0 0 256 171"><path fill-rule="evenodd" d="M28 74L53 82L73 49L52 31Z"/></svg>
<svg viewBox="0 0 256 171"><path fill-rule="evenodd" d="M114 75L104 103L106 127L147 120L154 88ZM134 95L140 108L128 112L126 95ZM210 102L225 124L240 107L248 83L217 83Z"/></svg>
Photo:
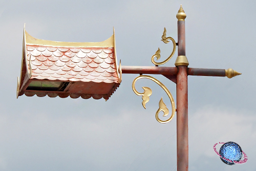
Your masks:
<svg viewBox="0 0 256 171"><path fill-rule="evenodd" d="M103 42L56 42L35 39L24 29L23 59L17 97L60 96L108 100L120 85L115 35ZM70 82L64 91L27 90L31 81Z"/></svg>

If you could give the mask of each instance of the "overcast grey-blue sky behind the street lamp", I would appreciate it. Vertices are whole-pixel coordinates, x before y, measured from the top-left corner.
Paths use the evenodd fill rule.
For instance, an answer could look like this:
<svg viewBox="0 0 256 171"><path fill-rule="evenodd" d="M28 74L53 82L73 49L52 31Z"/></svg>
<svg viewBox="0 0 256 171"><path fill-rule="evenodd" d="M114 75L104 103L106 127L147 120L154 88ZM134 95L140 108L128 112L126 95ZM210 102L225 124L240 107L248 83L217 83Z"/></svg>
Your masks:
<svg viewBox="0 0 256 171"><path fill-rule="evenodd" d="M154 82L140 80L153 94L146 110L132 90L138 75L122 76L111 98L101 100L27 97L16 99L22 60L23 27L35 38L97 42L116 33L122 65L154 66L172 50L161 36L177 41L176 14L187 15L189 67L233 68L228 78L188 77L189 170L256 170L255 1L57 1L0 0L0 170L177 170L176 116L155 119L158 102L168 97ZM173 59L164 66L174 66ZM176 85L163 76L176 101ZM212 147L238 143L245 164L227 165ZM220 145L217 146L217 150Z"/></svg>

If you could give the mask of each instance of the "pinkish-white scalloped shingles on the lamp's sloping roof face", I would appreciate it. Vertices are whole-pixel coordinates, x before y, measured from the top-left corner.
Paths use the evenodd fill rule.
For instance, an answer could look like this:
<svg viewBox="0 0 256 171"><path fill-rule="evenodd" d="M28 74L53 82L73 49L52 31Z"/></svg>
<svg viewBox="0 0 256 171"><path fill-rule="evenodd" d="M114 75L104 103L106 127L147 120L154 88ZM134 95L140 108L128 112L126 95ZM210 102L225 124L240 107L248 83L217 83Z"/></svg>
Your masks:
<svg viewBox="0 0 256 171"><path fill-rule="evenodd" d="M27 45L31 79L118 83L113 47Z"/></svg>

